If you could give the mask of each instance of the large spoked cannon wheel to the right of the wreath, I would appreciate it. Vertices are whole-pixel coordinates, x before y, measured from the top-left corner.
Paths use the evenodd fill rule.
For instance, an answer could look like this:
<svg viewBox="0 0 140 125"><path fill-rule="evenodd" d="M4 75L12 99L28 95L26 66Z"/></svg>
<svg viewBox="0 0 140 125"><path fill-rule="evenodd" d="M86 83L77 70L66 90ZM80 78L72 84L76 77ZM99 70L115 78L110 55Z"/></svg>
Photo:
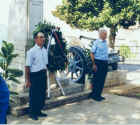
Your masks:
<svg viewBox="0 0 140 125"><path fill-rule="evenodd" d="M75 83L83 83L85 78L85 56L82 48L74 46L68 49L68 64L63 71L65 79L70 79ZM62 76L62 75L61 75Z"/></svg>

